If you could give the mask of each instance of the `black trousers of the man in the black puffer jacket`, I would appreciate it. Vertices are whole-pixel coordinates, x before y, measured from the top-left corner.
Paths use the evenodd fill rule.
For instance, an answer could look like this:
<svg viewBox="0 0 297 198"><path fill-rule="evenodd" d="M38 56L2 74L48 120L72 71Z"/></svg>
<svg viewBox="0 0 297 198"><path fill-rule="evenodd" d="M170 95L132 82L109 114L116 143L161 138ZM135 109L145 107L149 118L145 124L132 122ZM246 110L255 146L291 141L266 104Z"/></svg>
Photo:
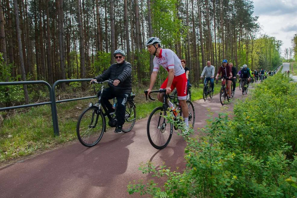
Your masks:
<svg viewBox="0 0 297 198"><path fill-rule="evenodd" d="M126 113L126 102L130 93L121 93L115 91L110 87L106 88L102 92L101 103L103 103L109 112L112 111L112 104L109 102L110 99L117 98L117 124L122 126L125 123L125 113Z"/></svg>

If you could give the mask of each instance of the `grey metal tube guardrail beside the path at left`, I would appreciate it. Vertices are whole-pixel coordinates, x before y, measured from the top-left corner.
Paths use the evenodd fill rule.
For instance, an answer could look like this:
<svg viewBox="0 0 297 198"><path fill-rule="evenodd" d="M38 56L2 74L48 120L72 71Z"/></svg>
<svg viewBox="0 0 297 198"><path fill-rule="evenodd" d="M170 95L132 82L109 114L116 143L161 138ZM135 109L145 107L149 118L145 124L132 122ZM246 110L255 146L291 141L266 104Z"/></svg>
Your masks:
<svg viewBox="0 0 297 198"><path fill-rule="evenodd" d="M53 86L51 87L49 83L43 81L43 80L36 80L36 81L17 81L17 82L0 82L0 86L8 86L8 85L25 85L25 84L45 84L48 87L49 90L49 96L50 96L50 102L40 102L35 104L29 104L29 105L18 105L18 106L11 106L11 107L3 107L0 108L0 111L5 111L9 109L17 109L17 108L25 108L25 107L33 107L33 106L39 106L39 105L51 105L51 111L52 111L52 122L53 122L53 128L54 128L54 135L59 135L59 124L58 124L58 115L57 115L57 103L61 102L69 102L74 100L82 100L82 99L90 99L90 98L96 98L97 96L87 96L82 98L74 98L74 99L67 99L67 100L58 100L56 101L55 97L55 87L59 83L66 83L66 82L82 82L82 81L90 81L92 78L89 79L71 79L71 80L57 80Z"/></svg>

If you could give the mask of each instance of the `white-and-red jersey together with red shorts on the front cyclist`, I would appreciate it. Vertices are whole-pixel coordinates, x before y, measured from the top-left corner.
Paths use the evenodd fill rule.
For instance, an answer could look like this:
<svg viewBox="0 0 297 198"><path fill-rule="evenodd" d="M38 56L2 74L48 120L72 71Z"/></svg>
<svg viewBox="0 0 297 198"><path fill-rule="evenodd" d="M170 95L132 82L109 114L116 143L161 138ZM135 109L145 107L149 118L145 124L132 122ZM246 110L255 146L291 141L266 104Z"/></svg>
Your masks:
<svg viewBox="0 0 297 198"><path fill-rule="evenodd" d="M158 71L159 65L161 65L167 71L169 71L169 69L174 69L174 78L170 88L173 91L176 87L178 99L185 100L187 95L187 79L180 59L171 49L161 49L159 57L155 56L154 58L153 71ZM167 83L168 77L162 83L160 88L165 89L167 87Z"/></svg>

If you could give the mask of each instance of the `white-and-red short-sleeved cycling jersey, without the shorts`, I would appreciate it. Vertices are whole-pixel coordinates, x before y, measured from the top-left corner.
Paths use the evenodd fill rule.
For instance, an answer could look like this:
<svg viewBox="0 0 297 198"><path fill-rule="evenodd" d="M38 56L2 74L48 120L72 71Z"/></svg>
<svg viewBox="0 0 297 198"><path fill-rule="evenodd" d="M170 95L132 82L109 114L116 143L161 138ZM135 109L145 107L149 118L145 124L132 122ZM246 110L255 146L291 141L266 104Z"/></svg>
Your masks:
<svg viewBox="0 0 297 198"><path fill-rule="evenodd" d="M155 56L153 71L159 71L159 65L167 71L174 69L174 76L185 73L180 59L171 49L161 49L159 57Z"/></svg>

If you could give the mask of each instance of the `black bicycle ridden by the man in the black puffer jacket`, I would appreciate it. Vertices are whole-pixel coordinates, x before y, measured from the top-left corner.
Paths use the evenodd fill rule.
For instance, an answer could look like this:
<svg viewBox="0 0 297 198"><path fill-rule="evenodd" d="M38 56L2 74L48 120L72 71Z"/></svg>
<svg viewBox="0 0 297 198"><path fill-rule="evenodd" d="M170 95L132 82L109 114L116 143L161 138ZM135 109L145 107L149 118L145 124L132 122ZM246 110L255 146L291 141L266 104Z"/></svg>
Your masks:
<svg viewBox="0 0 297 198"><path fill-rule="evenodd" d="M98 94L98 102L93 104L89 102L88 107L83 110L77 121L77 137L83 146L92 147L95 146L102 138L103 133L106 132L106 118L108 118L108 125L110 127L117 126L116 120L116 106L114 113L108 113L106 106L101 103L102 92L105 88L105 83L113 83L113 80L105 80L102 82L96 82L102 84L101 91ZM95 86L94 86L95 91ZM135 93L131 93L127 98L126 112L125 112L125 123L123 124L122 130L124 133L129 132L136 121L136 106L134 103Z"/></svg>

